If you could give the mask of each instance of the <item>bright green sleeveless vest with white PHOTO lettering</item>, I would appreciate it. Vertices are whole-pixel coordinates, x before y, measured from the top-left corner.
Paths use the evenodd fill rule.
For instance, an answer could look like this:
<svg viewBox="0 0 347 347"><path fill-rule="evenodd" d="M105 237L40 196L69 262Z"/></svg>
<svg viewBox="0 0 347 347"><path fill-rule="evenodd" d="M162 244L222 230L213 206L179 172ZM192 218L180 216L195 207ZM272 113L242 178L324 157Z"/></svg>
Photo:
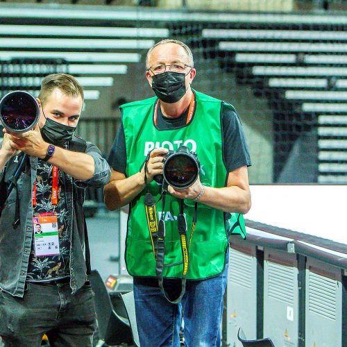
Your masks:
<svg viewBox="0 0 347 347"><path fill-rule="evenodd" d="M198 155L201 163L200 180L208 187L225 187L227 171L223 163L221 133L221 101L196 92L196 110L190 124L174 130L158 130L153 123L157 98L122 105L126 139L126 176L139 171L149 151L165 147L176 151L185 145ZM232 107L230 105L230 107ZM158 201L161 187L155 181L149 191ZM126 266L132 276L155 277L155 257L144 208L146 189L130 203L126 237ZM157 204L158 220L164 213L166 227L165 264L182 262L177 216L179 200L167 194L164 211ZM189 240L194 214L194 201L185 200L187 239ZM228 248L228 223L222 211L198 203L197 223L189 248L187 279L217 276L223 271ZM232 218L239 221L239 214ZM231 219L232 220L232 219ZM239 228L241 229L241 228ZM243 228L244 230L244 228ZM165 266L164 277L180 278L183 265Z"/></svg>

